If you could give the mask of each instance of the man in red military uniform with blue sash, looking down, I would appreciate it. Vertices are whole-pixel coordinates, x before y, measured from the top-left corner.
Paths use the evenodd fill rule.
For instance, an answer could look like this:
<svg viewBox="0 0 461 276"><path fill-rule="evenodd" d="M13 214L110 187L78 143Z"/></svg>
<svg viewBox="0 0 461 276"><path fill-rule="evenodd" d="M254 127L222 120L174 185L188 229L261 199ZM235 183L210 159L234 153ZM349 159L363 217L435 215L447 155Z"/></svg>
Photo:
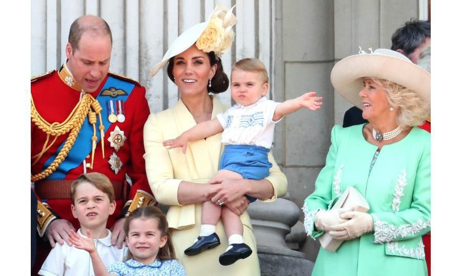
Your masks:
<svg viewBox="0 0 461 276"><path fill-rule="evenodd" d="M112 34L96 16L70 28L61 69L31 79L31 182L38 198L38 235L54 247L69 243L79 224L71 213L70 184L99 172L113 184L116 210L109 217L112 244L122 247L125 216L156 204L146 177L143 128L149 116L145 88L109 71ZM126 174L131 179L127 184ZM38 241L37 258L50 249ZM43 260L35 262L39 268ZM37 269L34 269L37 271Z"/></svg>

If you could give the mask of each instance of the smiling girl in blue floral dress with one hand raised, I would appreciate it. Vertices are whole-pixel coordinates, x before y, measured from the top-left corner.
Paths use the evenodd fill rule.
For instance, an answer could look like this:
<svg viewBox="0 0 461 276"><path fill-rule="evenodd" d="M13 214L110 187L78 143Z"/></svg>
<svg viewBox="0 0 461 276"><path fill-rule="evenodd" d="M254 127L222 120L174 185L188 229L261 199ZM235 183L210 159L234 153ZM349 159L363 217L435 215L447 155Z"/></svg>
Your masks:
<svg viewBox="0 0 461 276"><path fill-rule="evenodd" d="M137 208L125 220L124 230L129 248L126 262L112 263L107 269L95 250L89 232L88 238L75 232L71 232L70 238L76 248L90 253L97 276L186 275L184 267L175 258L168 222L160 209L154 206Z"/></svg>

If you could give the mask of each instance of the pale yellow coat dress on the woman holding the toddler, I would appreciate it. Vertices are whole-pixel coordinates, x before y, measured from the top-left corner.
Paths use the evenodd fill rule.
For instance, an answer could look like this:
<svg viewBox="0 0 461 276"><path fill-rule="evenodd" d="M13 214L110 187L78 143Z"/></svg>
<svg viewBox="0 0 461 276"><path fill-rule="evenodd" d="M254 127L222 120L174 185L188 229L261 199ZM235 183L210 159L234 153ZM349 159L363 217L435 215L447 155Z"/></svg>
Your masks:
<svg viewBox="0 0 461 276"><path fill-rule="evenodd" d="M213 97L211 117L215 118L218 113L225 110L226 107ZM179 204L177 199L179 183L183 180L207 183L218 171L219 157L224 146L221 144L221 133L190 142L186 154L183 154L181 147L168 150L162 142L176 138L195 124L194 118L179 99L174 107L151 114L144 126L146 173L155 199L159 203L170 205L167 220L176 258L184 265L189 276L259 275L256 240L247 212L240 216L240 219L244 226L244 241L253 250L250 257L229 266L219 264L219 255L228 247L221 221L216 226L221 245L196 256L184 254L184 250L192 245L200 231L202 204ZM287 193L287 178L280 172L271 154L269 154L269 161L273 166L267 179L274 187L274 196L267 202L274 201Z"/></svg>

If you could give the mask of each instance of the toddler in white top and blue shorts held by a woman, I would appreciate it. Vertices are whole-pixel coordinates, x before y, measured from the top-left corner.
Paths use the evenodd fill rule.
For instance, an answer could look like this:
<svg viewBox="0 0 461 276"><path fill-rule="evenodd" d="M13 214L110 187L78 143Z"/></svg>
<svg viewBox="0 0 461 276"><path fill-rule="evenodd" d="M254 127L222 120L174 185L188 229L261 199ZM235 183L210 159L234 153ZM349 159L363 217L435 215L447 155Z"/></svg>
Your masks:
<svg viewBox="0 0 461 276"><path fill-rule="evenodd" d="M269 77L263 62L256 58L237 61L231 72L231 95L237 104L218 114L215 119L198 123L176 139L166 140L163 144L170 145L169 148L182 147L186 153L189 141L224 131L222 143L225 150L219 162L219 171L210 183L216 183L217 179L264 179L272 167L267 155L272 146L275 123L301 108L315 111L322 105L319 102L322 97L315 97L315 92L280 103L265 97L268 90ZM249 196L247 198L250 202L256 200ZM221 199L215 203L203 203L201 231L195 243L184 251L186 255L195 255L221 244L215 233L221 217L229 247L219 256L219 263L230 265L250 256L252 250L243 241L242 221L224 204Z"/></svg>

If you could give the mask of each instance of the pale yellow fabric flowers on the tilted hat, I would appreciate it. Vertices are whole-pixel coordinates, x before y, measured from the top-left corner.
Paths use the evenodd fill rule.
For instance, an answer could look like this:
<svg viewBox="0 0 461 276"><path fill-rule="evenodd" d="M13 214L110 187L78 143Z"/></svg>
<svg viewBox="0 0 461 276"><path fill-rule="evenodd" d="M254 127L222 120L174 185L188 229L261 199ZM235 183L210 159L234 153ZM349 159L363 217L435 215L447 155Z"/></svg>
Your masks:
<svg viewBox="0 0 461 276"><path fill-rule="evenodd" d="M197 49L207 53L213 51L216 56L221 56L231 47L235 35L232 26L237 23L237 18L232 14L234 7L230 11L221 5L216 7L206 29L195 43Z"/></svg>

